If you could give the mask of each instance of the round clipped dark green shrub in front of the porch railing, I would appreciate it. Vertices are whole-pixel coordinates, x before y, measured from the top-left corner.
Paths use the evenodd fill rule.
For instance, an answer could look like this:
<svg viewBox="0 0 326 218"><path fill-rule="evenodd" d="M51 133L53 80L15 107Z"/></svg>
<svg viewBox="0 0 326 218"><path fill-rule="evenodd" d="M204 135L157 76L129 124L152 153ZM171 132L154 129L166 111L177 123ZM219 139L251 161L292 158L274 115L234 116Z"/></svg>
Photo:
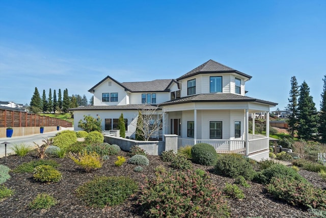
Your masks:
<svg viewBox="0 0 326 218"><path fill-rule="evenodd" d="M216 163L218 155L210 144L198 143L192 148L192 158L195 163L212 166Z"/></svg>

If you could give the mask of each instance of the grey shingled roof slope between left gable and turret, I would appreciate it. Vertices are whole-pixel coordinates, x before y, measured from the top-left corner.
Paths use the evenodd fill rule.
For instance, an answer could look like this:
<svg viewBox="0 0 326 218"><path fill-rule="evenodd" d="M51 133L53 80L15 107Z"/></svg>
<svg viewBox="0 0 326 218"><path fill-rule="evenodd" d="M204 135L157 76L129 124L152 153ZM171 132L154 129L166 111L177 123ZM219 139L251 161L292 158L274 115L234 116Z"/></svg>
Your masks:
<svg viewBox="0 0 326 218"><path fill-rule="evenodd" d="M153 80L147 82L124 82L121 83L131 92L154 92L154 91L169 91L169 86L174 80Z"/></svg>

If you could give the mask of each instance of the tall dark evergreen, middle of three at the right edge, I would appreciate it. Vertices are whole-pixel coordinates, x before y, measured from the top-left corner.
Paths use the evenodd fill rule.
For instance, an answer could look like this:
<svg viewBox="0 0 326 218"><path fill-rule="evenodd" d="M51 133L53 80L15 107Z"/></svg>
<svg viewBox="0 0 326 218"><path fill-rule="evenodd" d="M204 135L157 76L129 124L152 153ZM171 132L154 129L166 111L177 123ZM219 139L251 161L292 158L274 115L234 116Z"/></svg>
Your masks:
<svg viewBox="0 0 326 218"><path fill-rule="evenodd" d="M300 87L300 95L297 105L297 134L300 138L310 139L317 133L317 109L310 95L308 84L304 81Z"/></svg>

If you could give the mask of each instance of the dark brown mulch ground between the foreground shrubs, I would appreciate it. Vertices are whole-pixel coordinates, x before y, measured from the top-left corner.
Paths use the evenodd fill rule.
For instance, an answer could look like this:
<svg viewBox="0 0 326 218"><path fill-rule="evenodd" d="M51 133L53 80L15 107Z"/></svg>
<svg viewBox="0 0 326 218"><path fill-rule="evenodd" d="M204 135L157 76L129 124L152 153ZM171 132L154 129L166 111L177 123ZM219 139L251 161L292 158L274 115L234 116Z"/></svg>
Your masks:
<svg viewBox="0 0 326 218"><path fill-rule="evenodd" d="M126 152L119 155L128 158ZM0 159L0 164L5 164L11 169L21 163L35 160L35 157L9 156L6 164L4 158ZM150 165L144 167L141 173L133 172L135 165L124 163L117 167L114 165L116 157L110 157L104 161L102 168L92 173L86 173L77 166L71 159L52 158L60 163L59 171L63 174L63 179L58 183L40 183L33 180L33 174L10 173L11 179L4 184L8 188L15 189L12 197L0 202L0 217L143 217L135 198L128 199L124 204L115 207L105 207L104 209L91 208L79 201L75 190L78 186L92 180L96 176L128 176L139 184L144 184L146 177L154 177L154 168L158 165L169 167L169 163L162 162L158 156L148 156ZM202 168L209 171L212 167L194 164L195 168ZM326 189L326 183L317 175L308 171L301 170L300 174L312 182L315 186ZM211 174L213 183L223 188L225 183L233 183L234 179ZM243 200L228 199L231 217L312 217L313 214L305 209L293 207L282 201L271 198L264 185L249 182L251 188L242 188ZM38 193L49 193L58 200L56 206L50 209L30 210L29 203Z"/></svg>

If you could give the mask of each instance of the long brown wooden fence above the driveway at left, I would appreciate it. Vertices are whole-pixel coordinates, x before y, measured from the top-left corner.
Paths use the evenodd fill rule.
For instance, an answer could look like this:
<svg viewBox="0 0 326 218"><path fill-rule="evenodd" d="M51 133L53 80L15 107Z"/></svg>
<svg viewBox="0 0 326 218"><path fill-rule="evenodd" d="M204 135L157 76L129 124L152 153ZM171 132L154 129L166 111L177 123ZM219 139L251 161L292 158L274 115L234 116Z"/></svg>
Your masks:
<svg viewBox="0 0 326 218"><path fill-rule="evenodd" d="M23 111L0 109L0 127L72 127L72 123L63 119L41 116Z"/></svg>

